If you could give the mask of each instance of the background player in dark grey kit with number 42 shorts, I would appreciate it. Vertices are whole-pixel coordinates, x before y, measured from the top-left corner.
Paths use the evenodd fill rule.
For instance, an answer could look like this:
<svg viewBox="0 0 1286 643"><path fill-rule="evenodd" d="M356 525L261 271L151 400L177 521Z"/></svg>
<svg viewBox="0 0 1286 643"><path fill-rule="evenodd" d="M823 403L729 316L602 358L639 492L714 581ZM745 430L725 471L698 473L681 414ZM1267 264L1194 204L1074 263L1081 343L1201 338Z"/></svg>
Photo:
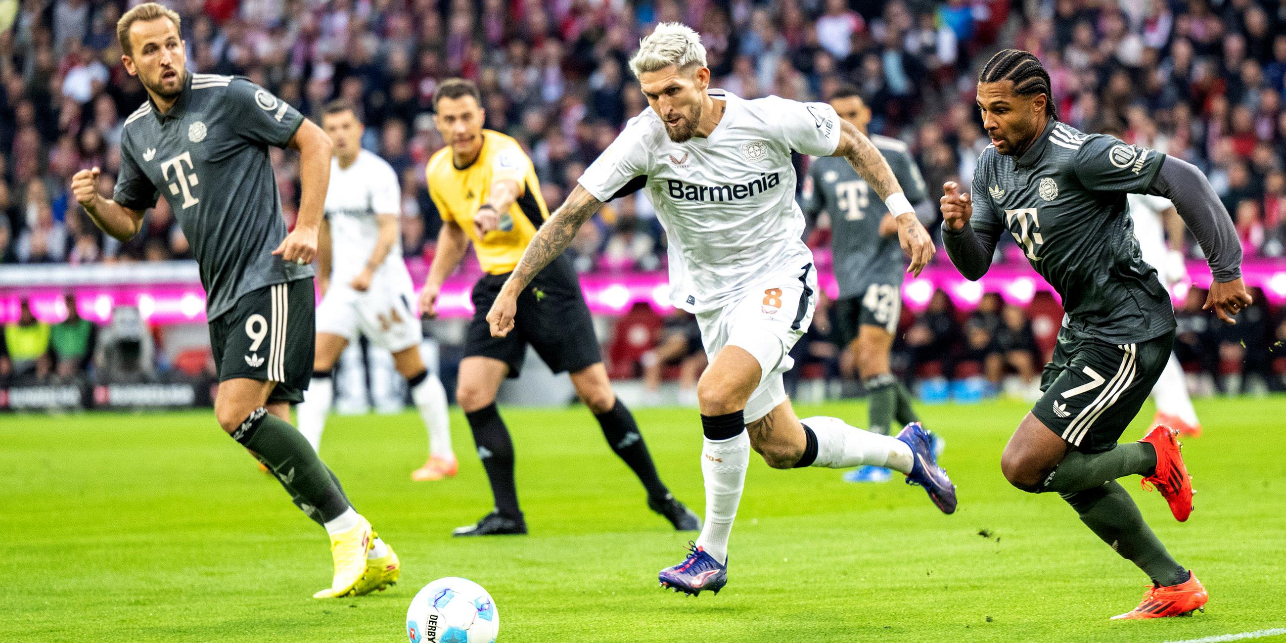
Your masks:
<svg viewBox="0 0 1286 643"><path fill-rule="evenodd" d="M853 85L841 85L829 100L835 112L867 134L871 108ZM887 136L867 135L892 168L907 201L926 211L928 193L907 144ZM894 419L907 426L919 422L910 406L910 391L889 369L898 320L901 319L901 248L898 222L889 207L872 198L871 185L840 157L814 158L804 179L805 215L826 212L831 220L831 248L840 298L835 301L838 345L856 358L862 386L871 396L867 431L889 435ZM844 475L849 482L886 482L882 467L862 467Z"/></svg>

